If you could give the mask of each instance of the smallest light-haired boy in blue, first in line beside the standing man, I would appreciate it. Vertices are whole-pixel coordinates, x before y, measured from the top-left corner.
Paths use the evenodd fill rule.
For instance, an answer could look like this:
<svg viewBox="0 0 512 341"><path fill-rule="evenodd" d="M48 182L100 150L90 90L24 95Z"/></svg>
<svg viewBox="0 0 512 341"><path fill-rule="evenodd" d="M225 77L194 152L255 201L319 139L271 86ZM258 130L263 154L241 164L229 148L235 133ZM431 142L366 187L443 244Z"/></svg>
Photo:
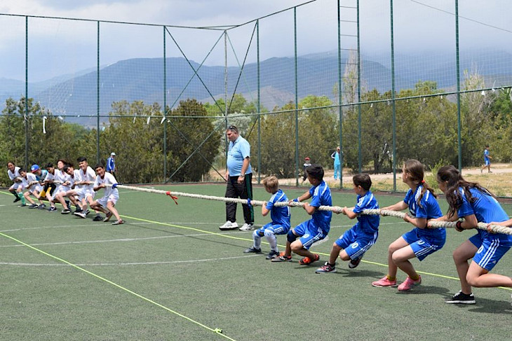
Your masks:
<svg viewBox="0 0 512 341"><path fill-rule="evenodd" d="M276 202L286 202L288 204L288 197L285 193L279 189L279 181L276 176L267 176L262 181L265 190L271 193L270 200L267 205L262 206L262 216L267 216L270 212L272 221L267 225L264 225L259 230L252 232L252 238L254 244L245 253L260 253L262 244L262 237L267 237L270 244L270 253L267 255L267 259L276 258L279 256L279 250L277 248L276 235L285 235L290 230L290 207L289 206L274 206Z"/></svg>

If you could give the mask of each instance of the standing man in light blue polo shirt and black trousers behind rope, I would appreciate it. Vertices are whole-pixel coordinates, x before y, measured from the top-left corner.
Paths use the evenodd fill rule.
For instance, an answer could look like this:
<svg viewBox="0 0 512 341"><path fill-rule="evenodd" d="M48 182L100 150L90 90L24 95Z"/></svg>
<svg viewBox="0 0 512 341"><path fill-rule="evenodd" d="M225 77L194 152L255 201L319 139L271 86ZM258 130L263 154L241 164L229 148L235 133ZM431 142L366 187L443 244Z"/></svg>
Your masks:
<svg viewBox="0 0 512 341"><path fill-rule="evenodd" d="M250 167L250 144L240 136L238 128L230 125L226 130L229 139L227 153L225 197L252 198L252 168ZM252 230L254 224L254 210L252 206L243 205L243 218L245 223L240 228L242 231ZM220 230L234 230L238 228L236 223L236 202L226 202L226 223L219 227Z"/></svg>

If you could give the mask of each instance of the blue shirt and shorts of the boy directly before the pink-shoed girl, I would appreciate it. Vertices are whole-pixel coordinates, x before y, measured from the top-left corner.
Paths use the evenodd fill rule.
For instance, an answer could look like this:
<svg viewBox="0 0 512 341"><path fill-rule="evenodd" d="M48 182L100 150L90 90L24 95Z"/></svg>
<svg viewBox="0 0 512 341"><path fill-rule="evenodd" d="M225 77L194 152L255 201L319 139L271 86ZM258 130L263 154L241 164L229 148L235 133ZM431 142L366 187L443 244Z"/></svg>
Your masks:
<svg viewBox="0 0 512 341"><path fill-rule="evenodd" d="M357 196L353 213L361 214L363 209L379 209L379 203L370 190ZM356 225L336 240L336 245L344 249L352 260L363 257L379 237L380 216L360 215L357 220Z"/></svg>

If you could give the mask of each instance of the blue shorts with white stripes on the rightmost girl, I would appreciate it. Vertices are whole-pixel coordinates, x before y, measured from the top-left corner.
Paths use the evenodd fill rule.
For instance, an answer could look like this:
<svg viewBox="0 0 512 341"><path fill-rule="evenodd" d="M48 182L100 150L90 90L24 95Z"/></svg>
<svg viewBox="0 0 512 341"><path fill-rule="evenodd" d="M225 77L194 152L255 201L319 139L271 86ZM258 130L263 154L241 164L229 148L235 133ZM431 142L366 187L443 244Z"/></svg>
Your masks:
<svg viewBox="0 0 512 341"><path fill-rule="evenodd" d="M511 245L504 245L498 237L492 235L483 239L479 234L474 235L469 238L469 241L478 247L478 251L473 256L473 262L487 271L492 270L498 260L511 248Z"/></svg>

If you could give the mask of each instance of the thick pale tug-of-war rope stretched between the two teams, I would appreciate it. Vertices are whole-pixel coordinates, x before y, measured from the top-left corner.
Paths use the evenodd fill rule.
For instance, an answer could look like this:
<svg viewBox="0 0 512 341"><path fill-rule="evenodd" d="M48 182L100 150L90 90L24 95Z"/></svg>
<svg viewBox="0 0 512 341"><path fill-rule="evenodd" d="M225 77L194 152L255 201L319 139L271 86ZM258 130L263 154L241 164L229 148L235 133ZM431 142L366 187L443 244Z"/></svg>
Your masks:
<svg viewBox="0 0 512 341"><path fill-rule="evenodd" d="M222 201L222 202L234 202L236 204L245 204L245 205L252 205L252 206L264 206L267 204L266 201L260 201L260 200L247 200L247 199L237 199L234 197L215 197L213 195L201 195L201 194L192 194L192 193L182 193L182 192L175 192L172 193L168 190L155 190L153 188L144 188L144 187L135 187L135 186L126 186L121 184L111 185L116 188L125 188L127 190L138 190L141 192L147 192L147 193L156 193L156 194L164 194L171 197L174 202L177 204L177 196L181 197L194 197L196 199L203 199L203 200L215 200L215 201ZM304 207L304 202L276 202L274 204L276 207ZM318 207L321 211L332 211L335 213L342 213L342 207L339 206L321 206ZM406 215L404 212L400 211L391 211L389 209L364 209L363 214L367 214L370 216L394 216L396 218L403 219ZM429 221L427 224L427 228L455 228L457 222L449 222L449 221ZM512 228L507 226L501 226L501 225L489 225L487 223L478 223L477 228L480 230L485 230L488 232L494 232L494 233L503 233L505 235L512 235Z"/></svg>

